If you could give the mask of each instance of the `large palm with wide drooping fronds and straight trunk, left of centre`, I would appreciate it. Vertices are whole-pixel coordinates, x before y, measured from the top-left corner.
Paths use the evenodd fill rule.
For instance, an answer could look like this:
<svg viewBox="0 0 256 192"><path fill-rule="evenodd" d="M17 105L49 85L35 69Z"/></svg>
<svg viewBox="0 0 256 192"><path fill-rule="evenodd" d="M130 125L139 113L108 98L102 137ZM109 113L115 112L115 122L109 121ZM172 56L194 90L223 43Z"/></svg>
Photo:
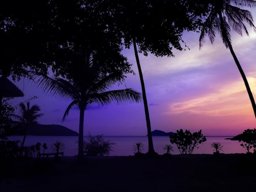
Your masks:
<svg viewBox="0 0 256 192"><path fill-rule="evenodd" d="M74 65L72 67L75 67ZM36 83L46 93L52 96L70 98L72 102L68 105L63 121L68 116L72 107L79 108L79 140L78 140L78 159L82 159L83 152L83 123L84 112L87 105L95 103L99 105L108 105L111 103L140 102L141 94L131 88L111 90L110 87L119 81L123 75L121 71L106 73L102 66L94 65L93 56L90 54L86 57L84 65L76 66L75 73L68 74L69 79L59 77L48 77L33 74L34 78L38 77Z"/></svg>

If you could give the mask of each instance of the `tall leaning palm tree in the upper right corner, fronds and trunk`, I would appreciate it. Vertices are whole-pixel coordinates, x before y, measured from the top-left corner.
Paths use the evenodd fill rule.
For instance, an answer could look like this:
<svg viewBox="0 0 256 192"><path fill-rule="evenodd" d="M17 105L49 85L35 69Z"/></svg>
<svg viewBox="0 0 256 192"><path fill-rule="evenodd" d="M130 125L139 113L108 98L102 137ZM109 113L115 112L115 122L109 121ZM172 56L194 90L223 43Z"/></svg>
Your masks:
<svg viewBox="0 0 256 192"><path fill-rule="evenodd" d="M236 5L236 6L234 6ZM254 110L254 115L256 118L256 104L254 97L252 95L249 83L245 76L245 73L236 57L236 54L231 45L231 28L236 31L240 36L242 36L242 31L245 31L247 36L249 33L244 22L248 23L250 27L253 27L256 31L256 27L253 24L253 18L250 11L245 9L240 9L242 7L256 7L256 1L254 0L212 0L211 1L211 11L204 22L200 38L199 38L199 48L201 49L203 43L205 42L204 38L208 34L211 43L213 44L215 40L216 32L220 33L222 41L227 49L230 50L236 66L243 78L247 93L252 103L252 108Z"/></svg>

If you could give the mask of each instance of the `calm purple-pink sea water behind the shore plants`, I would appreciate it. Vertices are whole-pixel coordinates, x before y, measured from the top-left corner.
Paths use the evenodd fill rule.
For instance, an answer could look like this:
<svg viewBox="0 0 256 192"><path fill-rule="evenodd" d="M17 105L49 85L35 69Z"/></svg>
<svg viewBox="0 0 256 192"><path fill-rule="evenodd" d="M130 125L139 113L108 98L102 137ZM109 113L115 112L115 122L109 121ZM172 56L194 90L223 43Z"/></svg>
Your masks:
<svg viewBox="0 0 256 192"><path fill-rule="evenodd" d="M224 147L222 150L225 154L231 153L245 153L245 149L240 146L241 143L238 141L231 141L225 138L231 138L233 136L207 136L207 141L198 145L198 149L193 152L193 154L212 154L213 148L211 147L211 143L220 142ZM12 136L11 140L20 140L22 141L22 136ZM147 136L104 136L105 140L110 140L116 145L113 145L112 152L110 156L129 156L133 155L132 147L136 142L141 142L144 144L144 152L148 151L148 138ZM87 141L88 136L84 136L84 140ZM52 152L50 149L52 143L55 141L61 141L65 144L64 155L65 156L74 156L77 155L78 144L78 136L27 136L25 145L34 145L37 142L40 142L42 145L46 143L48 149L45 152ZM171 144L168 136L153 136L153 144L155 152L158 154L164 154L164 146L166 144ZM173 146L174 152L171 154L180 154L177 146L175 144L171 144ZM43 151L43 148L41 149Z"/></svg>

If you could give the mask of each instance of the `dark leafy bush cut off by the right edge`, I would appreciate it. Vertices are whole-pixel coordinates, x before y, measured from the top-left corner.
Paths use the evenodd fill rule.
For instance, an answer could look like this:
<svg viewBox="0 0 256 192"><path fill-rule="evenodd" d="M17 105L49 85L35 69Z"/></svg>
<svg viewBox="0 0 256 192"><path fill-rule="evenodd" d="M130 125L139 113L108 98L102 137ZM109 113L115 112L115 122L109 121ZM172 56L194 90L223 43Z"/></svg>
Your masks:
<svg viewBox="0 0 256 192"><path fill-rule="evenodd" d="M256 129L246 129L243 134L241 134L240 138L238 138L239 142L243 141L245 143L240 144L243 148L249 150L253 148L254 153L256 153Z"/></svg>

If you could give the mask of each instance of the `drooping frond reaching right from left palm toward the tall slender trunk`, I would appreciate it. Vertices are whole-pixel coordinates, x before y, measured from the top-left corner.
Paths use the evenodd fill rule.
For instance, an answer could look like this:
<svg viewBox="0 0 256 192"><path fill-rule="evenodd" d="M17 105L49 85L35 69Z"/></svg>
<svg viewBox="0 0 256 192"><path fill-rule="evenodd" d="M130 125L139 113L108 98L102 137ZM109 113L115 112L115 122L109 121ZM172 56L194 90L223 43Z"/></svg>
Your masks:
<svg viewBox="0 0 256 192"><path fill-rule="evenodd" d="M90 100L93 103L108 105L110 103L139 103L142 101L141 93L136 92L131 88L113 90L103 93L95 93L90 95Z"/></svg>

